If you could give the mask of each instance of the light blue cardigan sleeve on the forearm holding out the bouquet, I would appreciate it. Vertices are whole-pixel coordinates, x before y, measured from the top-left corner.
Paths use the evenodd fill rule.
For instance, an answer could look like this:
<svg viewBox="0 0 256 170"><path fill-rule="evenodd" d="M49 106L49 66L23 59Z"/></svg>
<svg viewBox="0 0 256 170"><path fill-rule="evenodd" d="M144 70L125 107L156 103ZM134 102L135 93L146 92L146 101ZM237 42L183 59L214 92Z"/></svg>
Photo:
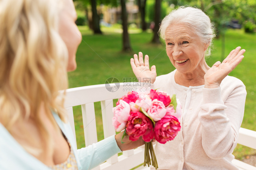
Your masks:
<svg viewBox="0 0 256 170"><path fill-rule="evenodd" d="M115 135L77 150L83 170L93 169L119 152L122 151L115 141Z"/></svg>

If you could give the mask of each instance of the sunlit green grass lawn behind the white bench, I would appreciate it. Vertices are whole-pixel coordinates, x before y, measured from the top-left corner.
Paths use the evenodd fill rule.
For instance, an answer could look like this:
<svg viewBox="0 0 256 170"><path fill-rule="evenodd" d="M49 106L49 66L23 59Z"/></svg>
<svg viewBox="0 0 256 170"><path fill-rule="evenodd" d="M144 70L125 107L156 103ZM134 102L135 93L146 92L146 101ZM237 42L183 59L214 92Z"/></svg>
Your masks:
<svg viewBox="0 0 256 170"><path fill-rule="evenodd" d="M174 70L166 55L165 45L150 43L153 36L150 30L141 32L138 29L130 29L133 52L123 53L121 52L122 34L120 26L102 28L103 35L93 35L86 26L80 26L79 29L82 32L83 41L77 50L77 70L68 73L69 88L104 84L109 77L116 77L120 82L123 82L124 78L125 80L135 78L130 67L130 58L139 51L144 55L149 55L150 66L156 65L157 75L167 74ZM228 30L225 36L225 56L237 46L246 50L245 58L230 75L242 80L246 85L247 97L241 127L254 131L256 131L255 40L255 34L245 34L243 30ZM221 60L221 40L216 39L213 44L212 55L207 58L209 66ZM74 107L78 148L85 146L80 110L80 107ZM99 131L98 140L104 138L100 110L100 103L98 102L95 104L97 131ZM233 154L236 158L243 159L245 155L256 154L256 150L238 145Z"/></svg>

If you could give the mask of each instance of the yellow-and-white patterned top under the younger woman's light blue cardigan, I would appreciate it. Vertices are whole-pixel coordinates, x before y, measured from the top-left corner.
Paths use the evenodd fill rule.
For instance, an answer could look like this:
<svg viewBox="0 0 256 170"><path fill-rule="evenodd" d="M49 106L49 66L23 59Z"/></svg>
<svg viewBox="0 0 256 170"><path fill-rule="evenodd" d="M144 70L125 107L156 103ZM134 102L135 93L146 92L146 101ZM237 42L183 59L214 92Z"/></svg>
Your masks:
<svg viewBox="0 0 256 170"><path fill-rule="evenodd" d="M65 137L66 141L68 142L68 139L66 138L66 136L63 134L63 136ZM71 149L71 145L68 142L69 147L70 147L70 154L68 156L67 161L57 164L57 165L53 165L53 166L49 166L50 169L54 169L54 170L78 170L77 167L77 161L74 155L73 150Z"/></svg>

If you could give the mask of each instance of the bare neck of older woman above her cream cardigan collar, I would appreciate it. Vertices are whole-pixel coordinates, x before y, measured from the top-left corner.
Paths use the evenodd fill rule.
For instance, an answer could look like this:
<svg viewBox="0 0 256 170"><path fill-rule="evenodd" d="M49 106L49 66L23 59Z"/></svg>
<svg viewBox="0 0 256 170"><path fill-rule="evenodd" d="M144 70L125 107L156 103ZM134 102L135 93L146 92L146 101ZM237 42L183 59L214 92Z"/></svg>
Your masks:
<svg viewBox="0 0 256 170"><path fill-rule="evenodd" d="M183 85L185 87L204 85L204 76L208 69L210 69L210 67L205 65L199 67L193 72L180 73L177 70L174 75L174 80L177 84Z"/></svg>

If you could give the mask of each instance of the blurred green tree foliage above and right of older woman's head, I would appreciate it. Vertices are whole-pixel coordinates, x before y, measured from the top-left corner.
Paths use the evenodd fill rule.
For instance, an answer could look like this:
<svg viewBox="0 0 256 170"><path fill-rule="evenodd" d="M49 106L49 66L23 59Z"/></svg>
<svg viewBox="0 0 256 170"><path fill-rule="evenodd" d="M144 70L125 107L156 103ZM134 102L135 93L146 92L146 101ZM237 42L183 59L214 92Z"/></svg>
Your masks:
<svg viewBox="0 0 256 170"><path fill-rule="evenodd" d="M246 32L256 28L255 0L183 0L180 5L188 4L205 11L217 29L217 36L225 31L231 20L238 20ZM177 6L177 4L175 4Z"/></svg>

